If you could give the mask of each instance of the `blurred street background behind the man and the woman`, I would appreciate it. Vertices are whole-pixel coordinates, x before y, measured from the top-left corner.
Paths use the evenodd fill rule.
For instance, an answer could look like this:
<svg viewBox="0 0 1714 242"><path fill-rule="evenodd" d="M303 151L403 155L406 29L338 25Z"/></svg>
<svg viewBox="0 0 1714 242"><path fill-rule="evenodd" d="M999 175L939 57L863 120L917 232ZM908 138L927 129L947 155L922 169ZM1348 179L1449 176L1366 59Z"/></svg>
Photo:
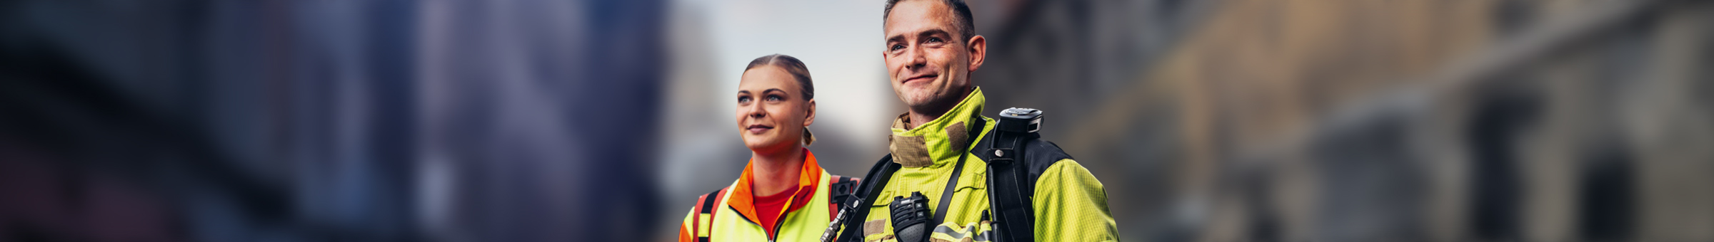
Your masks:
<svg viewBox="0 0 1714 242"><path fill-rule="evenodd" d="M674 240L756 56L884 155L883 5L0 0L0 242ZM1714 2L970 5L1124 240L1714 240Z"/></svg>

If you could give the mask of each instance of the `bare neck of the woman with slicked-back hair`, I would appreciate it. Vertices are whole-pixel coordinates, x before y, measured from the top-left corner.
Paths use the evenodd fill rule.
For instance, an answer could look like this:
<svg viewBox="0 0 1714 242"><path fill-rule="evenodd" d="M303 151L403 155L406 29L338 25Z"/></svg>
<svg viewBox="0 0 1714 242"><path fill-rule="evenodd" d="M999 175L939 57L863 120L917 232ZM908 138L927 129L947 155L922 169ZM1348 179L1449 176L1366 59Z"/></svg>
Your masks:
<svg viewBox="0 0 1714 242"><path fill-rule="evenodd" d="M797 176L804 170L804 148L794 147L775 153L751 152L752 196L780 194L797 186Z"/></svg>

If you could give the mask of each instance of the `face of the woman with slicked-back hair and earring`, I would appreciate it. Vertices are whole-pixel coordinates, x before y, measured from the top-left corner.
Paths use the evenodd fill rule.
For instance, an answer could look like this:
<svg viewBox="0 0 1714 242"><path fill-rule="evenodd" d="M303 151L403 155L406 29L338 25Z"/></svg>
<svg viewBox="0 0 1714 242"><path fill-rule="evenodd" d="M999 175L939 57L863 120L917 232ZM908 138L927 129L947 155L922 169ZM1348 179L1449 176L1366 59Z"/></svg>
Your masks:
<svg viewBox="0 0 1714 242"><path fill-rule="evenodd" d="M804 128L816 123L816 102L804 99L802 90L783 68L766 65L746 70L734 99L744 147L756 153L800 148Z"/></svg>

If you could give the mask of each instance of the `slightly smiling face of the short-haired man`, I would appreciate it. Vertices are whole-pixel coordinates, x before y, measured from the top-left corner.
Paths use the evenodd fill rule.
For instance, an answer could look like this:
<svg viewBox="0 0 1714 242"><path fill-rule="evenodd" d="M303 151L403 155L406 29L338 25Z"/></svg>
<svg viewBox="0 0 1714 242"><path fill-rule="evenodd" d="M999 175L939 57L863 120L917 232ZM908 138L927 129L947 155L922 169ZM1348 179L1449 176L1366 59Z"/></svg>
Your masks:
<svg viewBox="0 0 1714 242"><path fill-rule="evenodd" d="M972 49L955 37L951 7L934 0L903 0L893 5L893 14L883 27L886 32L886 73L893 80L893 94L914 111L946 109L963 99L970 89Z"/></svg>

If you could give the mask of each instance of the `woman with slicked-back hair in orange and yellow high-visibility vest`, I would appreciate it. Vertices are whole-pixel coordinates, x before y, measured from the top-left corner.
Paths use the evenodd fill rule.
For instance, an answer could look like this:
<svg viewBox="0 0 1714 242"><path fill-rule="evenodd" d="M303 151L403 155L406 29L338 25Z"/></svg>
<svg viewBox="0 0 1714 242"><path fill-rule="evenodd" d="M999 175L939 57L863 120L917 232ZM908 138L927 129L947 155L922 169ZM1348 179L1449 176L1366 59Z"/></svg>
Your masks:
<svg viewBox="0 0 1714 242"><path fill-rule="evenodd" d="M818 240L835 213L835 199L855 179L831 176L816 164L809 124L816 123L816 87L804 61L785 55L744 66L737 95L739 136L749 165L723 189L698 198L679 227L679 242Z"/></svg>

